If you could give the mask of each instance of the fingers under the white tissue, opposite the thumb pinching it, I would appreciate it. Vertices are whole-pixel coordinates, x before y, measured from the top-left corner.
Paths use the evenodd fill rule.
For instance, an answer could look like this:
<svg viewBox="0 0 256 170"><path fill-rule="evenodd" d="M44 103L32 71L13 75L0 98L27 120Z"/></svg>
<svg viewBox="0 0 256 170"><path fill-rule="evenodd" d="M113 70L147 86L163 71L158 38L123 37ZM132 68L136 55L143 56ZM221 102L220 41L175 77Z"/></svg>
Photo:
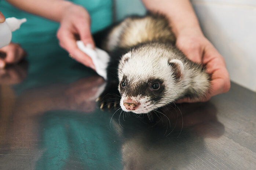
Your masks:
<svg viewBox="0 0 256 170"><path fill-rule="evenodd" d="M86 65L87 67L95 69L92 59L87 56L87 54L83 53L80 49L78 49L76 40L74 39L72 33L68 31L62 31L60 28L57 33L57 37L59 39L60 46L70 53L70 57Z"/></svg>

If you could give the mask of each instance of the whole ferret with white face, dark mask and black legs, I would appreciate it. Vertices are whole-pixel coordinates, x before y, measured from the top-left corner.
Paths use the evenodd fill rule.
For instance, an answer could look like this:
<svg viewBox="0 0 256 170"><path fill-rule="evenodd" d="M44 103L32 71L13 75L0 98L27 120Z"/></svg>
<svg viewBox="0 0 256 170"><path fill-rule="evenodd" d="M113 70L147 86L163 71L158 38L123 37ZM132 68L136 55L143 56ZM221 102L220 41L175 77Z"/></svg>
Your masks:
<svg viewBox="0 0 256 170"><path fill-rule="evenodd" d="M164 15L130 16L95 34L96 45L111 59L100 105L113 106L120 96L125 112L149 113L177 99L204 96L211 76L176 46Z"/></svg>

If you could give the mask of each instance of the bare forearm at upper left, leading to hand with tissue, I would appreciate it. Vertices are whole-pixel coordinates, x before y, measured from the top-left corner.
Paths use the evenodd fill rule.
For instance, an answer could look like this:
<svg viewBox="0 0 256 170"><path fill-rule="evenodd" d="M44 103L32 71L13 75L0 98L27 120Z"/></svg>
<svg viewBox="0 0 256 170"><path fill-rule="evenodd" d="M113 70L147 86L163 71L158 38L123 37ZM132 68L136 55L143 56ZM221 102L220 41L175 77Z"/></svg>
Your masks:
<svg viewBox="0 0 256 170"><path fill-rule="evenodd" d="M21 10L60 22L70 1L65 0L7 0Z"/></svg>

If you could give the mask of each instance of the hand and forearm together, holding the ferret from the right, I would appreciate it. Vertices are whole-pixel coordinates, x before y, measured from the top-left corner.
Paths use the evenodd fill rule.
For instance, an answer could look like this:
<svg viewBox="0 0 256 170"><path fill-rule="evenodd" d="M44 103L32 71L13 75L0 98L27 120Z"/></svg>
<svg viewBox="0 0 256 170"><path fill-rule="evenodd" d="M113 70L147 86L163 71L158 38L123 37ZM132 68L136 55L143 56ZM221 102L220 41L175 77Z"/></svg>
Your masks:
<svg viewBox="0 0 256 170"><path fill-rule="evenodd" d="M144 5L152 11L165 14L170 20L172 31L176 37L176 46L192 61L206 67L211 74L211 90L201 99L180 99L177 102L207 101L212 96L227 92L230 79L223 57L211 42L204 37L197 16L189 0L143 0Z"/></svg>

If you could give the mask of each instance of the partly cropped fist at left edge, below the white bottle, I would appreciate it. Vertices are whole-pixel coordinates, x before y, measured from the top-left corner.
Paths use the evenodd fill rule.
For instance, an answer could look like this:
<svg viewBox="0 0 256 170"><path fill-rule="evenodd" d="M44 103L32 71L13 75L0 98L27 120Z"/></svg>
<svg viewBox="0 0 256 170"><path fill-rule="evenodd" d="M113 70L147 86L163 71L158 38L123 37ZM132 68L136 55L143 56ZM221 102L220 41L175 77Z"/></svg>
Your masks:
<svg viewBox="0 0 256 170"><path fill-rule="evenodd" d="M25 55L25 51L19 44L11 42L7 46L0 48L0 68L4 68L6 64L18 63Z"/></svg>

